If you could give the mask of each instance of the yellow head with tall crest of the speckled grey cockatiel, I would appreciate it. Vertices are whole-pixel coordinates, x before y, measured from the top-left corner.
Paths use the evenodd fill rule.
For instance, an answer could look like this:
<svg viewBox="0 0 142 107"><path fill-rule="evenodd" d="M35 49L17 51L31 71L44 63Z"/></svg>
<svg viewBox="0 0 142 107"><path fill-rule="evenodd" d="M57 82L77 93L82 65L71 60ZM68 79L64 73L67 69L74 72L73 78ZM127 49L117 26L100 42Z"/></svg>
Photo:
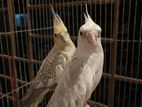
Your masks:
<svg viewBox="0 0 142 107"><path fill-rule="evenodd" d="M72 41L70 35L63 21L57 13L55 13L53 6L51 5L51 12L53 15L53 36L54 36L54 45L63 48L67 45L71 45Z"/></svg>

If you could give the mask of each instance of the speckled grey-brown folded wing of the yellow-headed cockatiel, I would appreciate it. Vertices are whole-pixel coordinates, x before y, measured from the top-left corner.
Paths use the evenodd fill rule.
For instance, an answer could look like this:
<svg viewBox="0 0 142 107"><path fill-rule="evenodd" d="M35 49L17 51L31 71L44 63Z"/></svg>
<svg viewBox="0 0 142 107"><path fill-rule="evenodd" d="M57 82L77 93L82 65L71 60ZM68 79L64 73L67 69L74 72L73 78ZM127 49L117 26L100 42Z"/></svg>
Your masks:
<svg viewBox="0 0 142 107"><path fill-rule="evenodd" d="M48 56L43 60L37 76L33 80L26 95L22 98L21 105L34 103L47 93L50 87L56 85L56 73L60 71L59 68L61 69L64 66L66 58L61 55L60 51L52 48Z"/></svg>

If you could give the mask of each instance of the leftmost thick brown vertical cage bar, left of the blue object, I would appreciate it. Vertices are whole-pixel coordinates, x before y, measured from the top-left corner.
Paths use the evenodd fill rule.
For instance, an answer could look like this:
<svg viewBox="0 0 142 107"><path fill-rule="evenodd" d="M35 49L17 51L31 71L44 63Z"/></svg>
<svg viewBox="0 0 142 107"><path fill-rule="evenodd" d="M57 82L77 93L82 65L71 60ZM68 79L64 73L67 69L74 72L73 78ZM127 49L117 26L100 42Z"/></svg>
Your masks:
<svg viewBox="0 0 142 107"><path fill-rule="evenodd" d="M9 16L9 26L10 26L10 32L14 32L14 14L13 14L13 3L12 0L7 0L7 6L8 6L8 16ZM11 47L12 47L12 58L10 61L10 78L11 78L11 87L12 90L15 90L17 88L17 82L16 82L16 65L14 57L16 56L16 44L15 44L15 35L14 33L11 33ZM13 92L13 107L17 107L18 104L18 93Z"/></svg>

